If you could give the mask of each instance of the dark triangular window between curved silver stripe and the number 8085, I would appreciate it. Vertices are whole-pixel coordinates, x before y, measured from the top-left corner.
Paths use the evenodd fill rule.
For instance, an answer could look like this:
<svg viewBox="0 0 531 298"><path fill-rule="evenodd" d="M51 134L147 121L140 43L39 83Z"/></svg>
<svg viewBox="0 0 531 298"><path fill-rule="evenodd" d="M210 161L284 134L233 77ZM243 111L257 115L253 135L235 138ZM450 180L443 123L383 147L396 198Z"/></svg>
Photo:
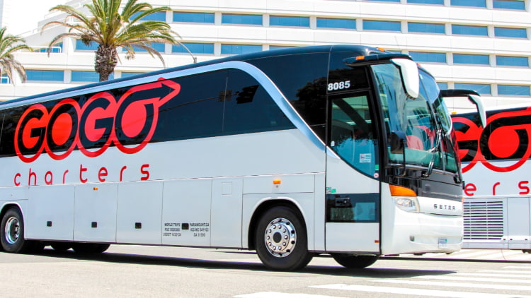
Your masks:
<svg viewBox="0 0 531 298"><path fill-rule="evenodd" d="M323 141L328 60L328 53L312 53L248 61L271 78L302 119Z"/></svg>

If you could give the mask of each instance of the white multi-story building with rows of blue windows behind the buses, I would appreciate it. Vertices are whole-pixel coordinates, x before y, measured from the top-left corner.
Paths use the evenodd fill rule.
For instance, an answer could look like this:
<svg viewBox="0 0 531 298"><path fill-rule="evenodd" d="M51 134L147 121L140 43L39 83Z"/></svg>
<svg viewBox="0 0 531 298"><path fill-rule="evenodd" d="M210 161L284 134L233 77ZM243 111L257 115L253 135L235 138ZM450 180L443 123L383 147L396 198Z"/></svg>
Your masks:
<svg viewBox="0 0 531 298"><path fill-rule="evenodd" d="M530 0L147 0L171 11L166 20L182 37L182 46L154 44L166 67L221 56L317 44L367 44L409 54L428 69L441 88L477 90L488 108L531 103ZM81 8L86 0L67 4ZM39 23L64 19L51 13ZM65 28L25 36L33 47L47 47ZM93 49L67 39L44 52L16 58L28 81L2 78L1 100L97 81ZM138 52L120 56L114 78L154 71L161 61ZM466 110L466 100L447 101Z"/></svg>

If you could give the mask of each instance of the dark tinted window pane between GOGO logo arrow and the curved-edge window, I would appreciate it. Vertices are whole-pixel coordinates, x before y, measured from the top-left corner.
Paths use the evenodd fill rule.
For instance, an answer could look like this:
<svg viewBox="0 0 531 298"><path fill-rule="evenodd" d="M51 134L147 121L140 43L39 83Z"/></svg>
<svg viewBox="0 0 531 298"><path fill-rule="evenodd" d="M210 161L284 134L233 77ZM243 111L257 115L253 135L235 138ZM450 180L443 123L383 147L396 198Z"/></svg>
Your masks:
<svg viewBox="0 0 531 298"><path fill-rule="evenodd" d="M181 85L181 92L161 107L153 141L221 135L227 71L173 81Z"/></svg>

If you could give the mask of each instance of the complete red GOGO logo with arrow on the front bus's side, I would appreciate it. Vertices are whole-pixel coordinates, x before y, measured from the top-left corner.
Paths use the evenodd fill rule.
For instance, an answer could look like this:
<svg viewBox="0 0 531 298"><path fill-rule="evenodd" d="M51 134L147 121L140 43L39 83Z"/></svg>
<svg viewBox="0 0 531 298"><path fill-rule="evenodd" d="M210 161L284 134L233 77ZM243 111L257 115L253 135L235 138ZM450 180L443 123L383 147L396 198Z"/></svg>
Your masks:
<svg viewBox="0 0 531 298"><path fill-rule="evenodd" d="M50 111L42 104L32 105L16 126L16 155L23 162L33 162L46 152L62 160L78 148L96 157L111 144L122 153L137 153L152 139L159 108L180 91L178 83L160 78L125 90L119 99L101 92L82 106L81 100L72 98L57 102Z"/></svg>

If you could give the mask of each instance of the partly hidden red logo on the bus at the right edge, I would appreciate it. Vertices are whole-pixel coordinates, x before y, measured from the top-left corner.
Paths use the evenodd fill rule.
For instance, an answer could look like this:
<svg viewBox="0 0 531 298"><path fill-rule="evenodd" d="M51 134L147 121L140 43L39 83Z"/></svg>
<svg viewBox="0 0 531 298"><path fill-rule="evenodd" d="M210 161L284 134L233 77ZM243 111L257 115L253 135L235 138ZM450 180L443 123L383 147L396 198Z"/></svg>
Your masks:
<svg viewBox="0 0 531 298"><path fill-rule="evenodd" d="M495 172L510 172L531 157L531 107L518 111L498 112L487 119L484 129L464 117L452 119L459 145L459 158L470 162L463 172L477 162ZM515 160L498 167L489 160Z"/></svg>

